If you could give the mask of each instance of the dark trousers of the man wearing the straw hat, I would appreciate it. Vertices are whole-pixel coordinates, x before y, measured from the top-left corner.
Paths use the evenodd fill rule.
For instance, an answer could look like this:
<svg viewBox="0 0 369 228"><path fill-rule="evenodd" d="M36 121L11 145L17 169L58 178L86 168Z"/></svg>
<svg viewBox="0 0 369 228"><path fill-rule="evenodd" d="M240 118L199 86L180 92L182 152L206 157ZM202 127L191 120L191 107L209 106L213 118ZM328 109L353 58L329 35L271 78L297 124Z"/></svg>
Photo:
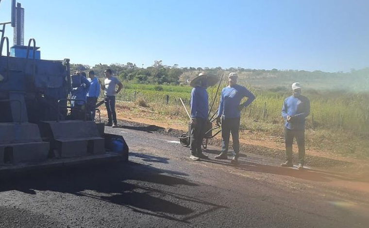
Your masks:
<svg viewBox="0 0 369 228"><path fill-rule="evenodd" d="M196 118L196 126L191 126L191 139L190 139L190 152L192 155L197 156L202 153L201 145L202 139L206 133L207 119Z"/></svg>

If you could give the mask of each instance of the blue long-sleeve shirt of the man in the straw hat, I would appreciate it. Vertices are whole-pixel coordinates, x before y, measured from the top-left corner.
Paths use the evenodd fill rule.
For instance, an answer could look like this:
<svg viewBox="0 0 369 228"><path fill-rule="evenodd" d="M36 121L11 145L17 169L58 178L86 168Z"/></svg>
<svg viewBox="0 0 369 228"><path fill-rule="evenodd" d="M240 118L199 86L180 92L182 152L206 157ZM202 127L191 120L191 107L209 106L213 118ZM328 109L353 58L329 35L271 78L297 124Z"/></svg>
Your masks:
<svg viewBox="0 0 369 228"><path fill-rule="evenodd" d="M204 87L197 86L191 91L191 118L208 118L209 96Z"/></svg>

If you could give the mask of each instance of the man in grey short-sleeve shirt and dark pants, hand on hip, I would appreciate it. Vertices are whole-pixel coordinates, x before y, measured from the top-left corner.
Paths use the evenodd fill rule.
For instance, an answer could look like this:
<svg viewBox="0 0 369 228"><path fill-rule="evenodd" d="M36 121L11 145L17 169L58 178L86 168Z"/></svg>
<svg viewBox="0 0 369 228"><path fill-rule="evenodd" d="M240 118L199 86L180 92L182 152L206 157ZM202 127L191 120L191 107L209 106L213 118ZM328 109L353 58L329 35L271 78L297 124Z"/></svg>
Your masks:
<svg viewBox="0 0 369 228"><path fill-rule="evenodd" d="M104 71L105 80L101 85L101 89L104 90L105 94L105 107L108 113L108 123L106 126L117 127L117 114L115 111L116 94L120 92L123 88L123 84L116 78L112 76L112 70L106 69ZM116 91L116 87L118 89Z"/></svg>

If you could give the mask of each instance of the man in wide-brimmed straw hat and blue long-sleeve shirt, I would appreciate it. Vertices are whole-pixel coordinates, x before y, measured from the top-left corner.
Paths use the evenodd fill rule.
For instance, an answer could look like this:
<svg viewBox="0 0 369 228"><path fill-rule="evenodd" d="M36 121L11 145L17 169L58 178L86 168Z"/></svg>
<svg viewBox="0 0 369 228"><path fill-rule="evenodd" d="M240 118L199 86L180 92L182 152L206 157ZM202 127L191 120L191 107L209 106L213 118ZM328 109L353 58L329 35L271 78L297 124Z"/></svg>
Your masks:
<svg viewBox="0 0 369 228"><path fill-rule="evenodd" d="M206 91L208 87L206 73L200 73L198 77L191 81L194 87L191 91L191 138L190 138L190 159L207 159L208 156L202 153L201 144L205 137L209 112L209 96Z"/></svg>

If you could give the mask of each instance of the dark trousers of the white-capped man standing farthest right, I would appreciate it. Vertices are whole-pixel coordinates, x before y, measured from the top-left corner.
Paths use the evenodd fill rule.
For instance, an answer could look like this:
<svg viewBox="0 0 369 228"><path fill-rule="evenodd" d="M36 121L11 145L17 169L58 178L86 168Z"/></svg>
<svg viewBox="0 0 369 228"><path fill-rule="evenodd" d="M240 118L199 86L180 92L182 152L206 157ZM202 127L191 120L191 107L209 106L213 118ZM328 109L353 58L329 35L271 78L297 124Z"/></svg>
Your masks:
<svg viewBox="0 0 369 228"><path fill-rule="evenodd" d="M299 163L303 164L305 159L305 130L291 130L285 128L285 153L287 161L292 163L292 144L296 137L299 147Z"/></svg>

